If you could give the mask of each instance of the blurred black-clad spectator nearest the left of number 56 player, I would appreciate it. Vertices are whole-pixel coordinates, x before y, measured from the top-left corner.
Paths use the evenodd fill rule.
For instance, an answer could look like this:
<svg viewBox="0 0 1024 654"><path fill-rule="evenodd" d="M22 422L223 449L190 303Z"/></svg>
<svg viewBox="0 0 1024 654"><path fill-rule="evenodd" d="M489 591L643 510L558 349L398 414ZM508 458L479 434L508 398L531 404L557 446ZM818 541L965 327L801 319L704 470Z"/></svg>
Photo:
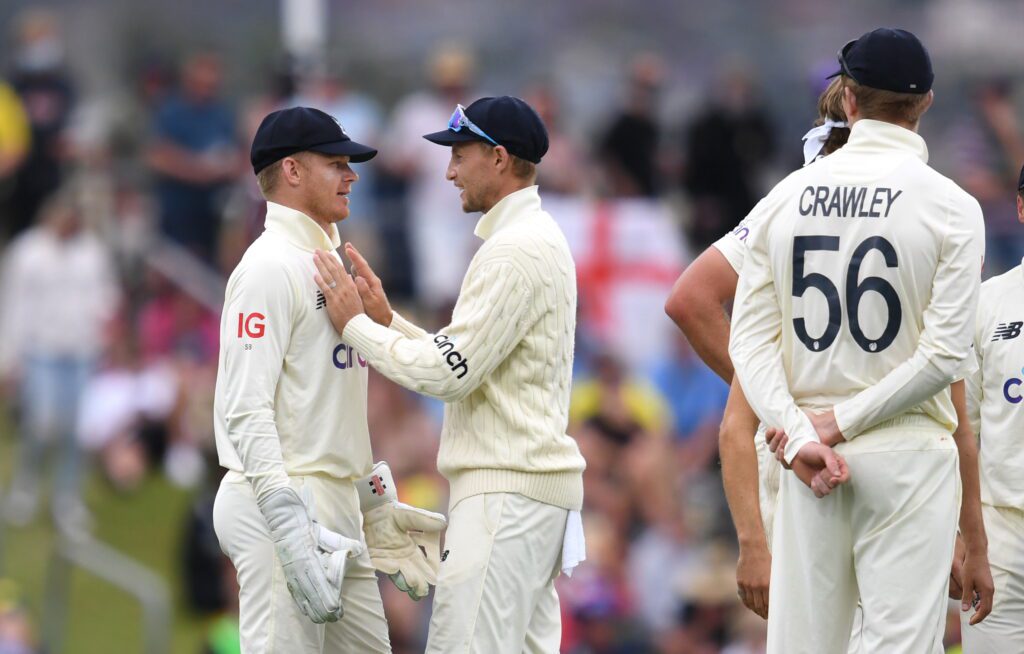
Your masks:
<svg viewBox="0 0 1024 654"><path fill-rule="evenodd" d="M775 154L775 128L742 71L728 73L686 126L683 188L693 203L690 244L699 252L743 219L761 194L758 177Z"/></svg>

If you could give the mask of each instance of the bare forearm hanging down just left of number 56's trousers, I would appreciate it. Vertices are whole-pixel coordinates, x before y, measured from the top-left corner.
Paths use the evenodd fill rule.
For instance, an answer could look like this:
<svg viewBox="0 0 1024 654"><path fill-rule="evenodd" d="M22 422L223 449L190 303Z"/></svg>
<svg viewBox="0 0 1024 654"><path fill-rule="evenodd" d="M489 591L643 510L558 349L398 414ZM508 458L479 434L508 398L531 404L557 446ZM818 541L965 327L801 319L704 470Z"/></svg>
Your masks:
<svg viewBox="0 0 1024 654"><path fill-rule="evenodd" d="M740 548L767 548L758 489L758 453L754 434L758 418L733 382L719 432L722 483Z"/></svg>

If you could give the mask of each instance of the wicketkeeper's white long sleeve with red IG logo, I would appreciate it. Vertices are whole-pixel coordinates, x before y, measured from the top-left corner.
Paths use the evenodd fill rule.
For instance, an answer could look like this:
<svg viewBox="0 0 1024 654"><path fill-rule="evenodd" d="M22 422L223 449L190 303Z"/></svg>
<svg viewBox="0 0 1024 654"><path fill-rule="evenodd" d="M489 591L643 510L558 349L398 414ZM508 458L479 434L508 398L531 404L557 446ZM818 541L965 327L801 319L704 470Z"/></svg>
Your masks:
<svg viewBox="0 0 1024 654"><path fill-rule="evenodd" d="M288 485L274 395L291 339L292 305L288 277L267 264L238 270L224 302L225 427L257 497Z"/></svg>

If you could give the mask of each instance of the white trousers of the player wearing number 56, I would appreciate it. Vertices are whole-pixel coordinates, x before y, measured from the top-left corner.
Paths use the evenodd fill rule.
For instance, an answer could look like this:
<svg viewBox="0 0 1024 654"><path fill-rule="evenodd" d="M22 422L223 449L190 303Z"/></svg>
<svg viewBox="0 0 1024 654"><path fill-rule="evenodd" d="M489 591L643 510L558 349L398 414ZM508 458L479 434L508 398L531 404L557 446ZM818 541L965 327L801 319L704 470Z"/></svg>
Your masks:
<svg viewBox="0 0 1024 654"><path fill-rule="evenodd" d="M769 654L942 651L959 506L956 446L924 416L837 445L850 481L823 498L785 472L772 543Z"/></svg>

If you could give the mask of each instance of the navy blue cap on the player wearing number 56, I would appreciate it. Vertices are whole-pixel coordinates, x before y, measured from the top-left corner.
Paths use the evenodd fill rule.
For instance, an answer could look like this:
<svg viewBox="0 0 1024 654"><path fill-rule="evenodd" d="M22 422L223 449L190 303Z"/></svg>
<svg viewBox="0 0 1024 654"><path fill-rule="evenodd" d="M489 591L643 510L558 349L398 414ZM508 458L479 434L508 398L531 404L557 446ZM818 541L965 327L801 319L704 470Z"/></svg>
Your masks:
<svg viewBox="0 0 1024 654"><path fill-rule="evenodd" d="M928 93L935 73L925 45L906 30L879 28L839 51L840 70L857 84L896 93Z"/></svg>

